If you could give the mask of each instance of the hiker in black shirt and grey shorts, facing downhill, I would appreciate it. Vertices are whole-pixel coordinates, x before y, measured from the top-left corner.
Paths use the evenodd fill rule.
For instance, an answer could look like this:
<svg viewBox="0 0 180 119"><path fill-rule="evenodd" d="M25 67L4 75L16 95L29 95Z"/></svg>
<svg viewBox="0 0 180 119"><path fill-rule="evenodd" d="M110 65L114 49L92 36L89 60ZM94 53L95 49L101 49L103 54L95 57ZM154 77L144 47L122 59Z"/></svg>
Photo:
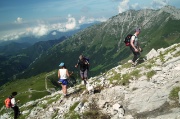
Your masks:
<svg viewBox="0 0 180 119"><path fill-rule="evenodd" d="M88 70L89 70L89 61L87 58L85 58L83 55L79 56L78 63L75 65L77 68L80 66L80 76L81 79L84 81L84 84L87 84L87 78L88 78Z"/></svg>

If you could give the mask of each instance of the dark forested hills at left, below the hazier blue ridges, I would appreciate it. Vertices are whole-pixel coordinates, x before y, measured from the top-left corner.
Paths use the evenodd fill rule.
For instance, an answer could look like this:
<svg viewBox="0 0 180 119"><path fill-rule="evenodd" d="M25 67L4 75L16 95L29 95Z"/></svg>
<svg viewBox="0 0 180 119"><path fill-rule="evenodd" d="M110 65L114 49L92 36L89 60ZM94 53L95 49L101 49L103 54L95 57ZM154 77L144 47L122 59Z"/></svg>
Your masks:
<svg viewBox="0 0 180 119"><path fill-rule="evenodd" d="M29 44L26 43L11 43L2 46L3 49L0 49L0 84L14 79L16 77L15 74L27 69L31 63L35 62L36 59L49 48L62 42L66 38L67 37L61 37L56 40L39 41L29 47Z"/></svg>

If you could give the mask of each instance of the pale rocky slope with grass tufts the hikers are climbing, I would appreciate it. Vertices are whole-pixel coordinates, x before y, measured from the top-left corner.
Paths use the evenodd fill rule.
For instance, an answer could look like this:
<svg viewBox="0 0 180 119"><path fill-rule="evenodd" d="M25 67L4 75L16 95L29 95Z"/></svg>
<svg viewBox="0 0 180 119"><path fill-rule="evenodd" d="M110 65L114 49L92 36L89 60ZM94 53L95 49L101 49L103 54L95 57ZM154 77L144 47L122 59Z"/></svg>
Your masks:
<svg viewBox="0 0 180 119"><path fill-rule="evenodd" d="M62 97L62 91L57 91L27 102L20 107L22 115L26 119L71 119L75 115L82 119L93 116L179 119L180 91L177 100L172 100L170 95L174 88L180 87L180 44L157 51L152 49L147 59L136 67L127 63L90 78L86 87L80 84L68 88L67 97ZM5 113L0 118L12 118L10 114Z"/></svg>

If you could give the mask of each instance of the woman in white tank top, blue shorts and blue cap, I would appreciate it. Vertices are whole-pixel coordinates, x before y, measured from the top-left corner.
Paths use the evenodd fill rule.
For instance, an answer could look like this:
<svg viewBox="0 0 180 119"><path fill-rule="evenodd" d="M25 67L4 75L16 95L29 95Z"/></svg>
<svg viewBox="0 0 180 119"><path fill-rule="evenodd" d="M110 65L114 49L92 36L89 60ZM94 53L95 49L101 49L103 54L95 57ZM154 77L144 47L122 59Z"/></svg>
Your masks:
<svg viewBox="0 0 180 119"><path fill-rule="evenodd" d="M59 78L58 83L60 83L62 86L62 91L64 96L67 96L67 85L68 85L67 78L69 78L70 75L63 62L59 64L59 67L60 69L58 70L58 78Z"/></svg>

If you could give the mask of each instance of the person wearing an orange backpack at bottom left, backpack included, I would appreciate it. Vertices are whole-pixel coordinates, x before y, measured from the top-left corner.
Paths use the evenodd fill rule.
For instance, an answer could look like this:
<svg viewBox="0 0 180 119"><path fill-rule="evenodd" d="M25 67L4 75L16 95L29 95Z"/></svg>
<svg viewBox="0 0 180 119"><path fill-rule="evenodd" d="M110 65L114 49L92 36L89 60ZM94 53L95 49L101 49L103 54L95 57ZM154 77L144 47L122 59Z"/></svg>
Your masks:
<svg viewBox="0 0 180 119"><path fill-rule="evenodd" d="M17 103L19 102L19 100L15 100L15 96L17 95L17 92L12 92L11 96L9 96L6 100L5 100L5 105L6 108L12 108L14 110L14 119L17 119L19 117L20 110L19 107L17 106Z"/></svg>

